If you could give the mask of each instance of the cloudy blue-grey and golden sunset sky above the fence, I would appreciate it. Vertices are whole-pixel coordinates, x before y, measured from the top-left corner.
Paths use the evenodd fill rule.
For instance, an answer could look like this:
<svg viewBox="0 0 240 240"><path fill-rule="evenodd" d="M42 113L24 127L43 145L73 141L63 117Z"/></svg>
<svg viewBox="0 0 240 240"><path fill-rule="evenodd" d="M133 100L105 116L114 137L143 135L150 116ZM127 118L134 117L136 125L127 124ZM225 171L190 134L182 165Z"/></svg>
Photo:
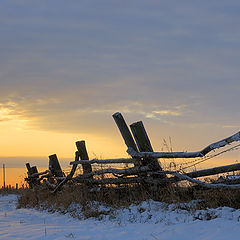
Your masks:
<svg viewBox="0 0 240 240"><path fill-rule="evenodd" d="M68 162L78 140L126 157L115 112L142 120L155 151L238 132L239 26L235 0L2 0L0 163Z"/></svg>

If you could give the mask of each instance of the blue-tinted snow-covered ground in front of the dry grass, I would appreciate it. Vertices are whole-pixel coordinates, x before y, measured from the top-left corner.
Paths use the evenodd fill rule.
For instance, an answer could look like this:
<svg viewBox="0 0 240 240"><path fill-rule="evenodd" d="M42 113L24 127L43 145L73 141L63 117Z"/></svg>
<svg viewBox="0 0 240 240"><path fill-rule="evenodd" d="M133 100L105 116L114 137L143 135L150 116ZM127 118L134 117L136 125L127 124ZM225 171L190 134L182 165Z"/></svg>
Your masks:
<svg viewBox="0 0 240 240"><path fill-rule="evenodd" d="M118 210L99 221L16 209L16 202L16 195L0 195L0 239L240 239L240 210L227 207L194 212L189 205L176 208L149 201ZM103 206L98 208L108 210ZM76 215L81 213L76 211Z"/></svg>

